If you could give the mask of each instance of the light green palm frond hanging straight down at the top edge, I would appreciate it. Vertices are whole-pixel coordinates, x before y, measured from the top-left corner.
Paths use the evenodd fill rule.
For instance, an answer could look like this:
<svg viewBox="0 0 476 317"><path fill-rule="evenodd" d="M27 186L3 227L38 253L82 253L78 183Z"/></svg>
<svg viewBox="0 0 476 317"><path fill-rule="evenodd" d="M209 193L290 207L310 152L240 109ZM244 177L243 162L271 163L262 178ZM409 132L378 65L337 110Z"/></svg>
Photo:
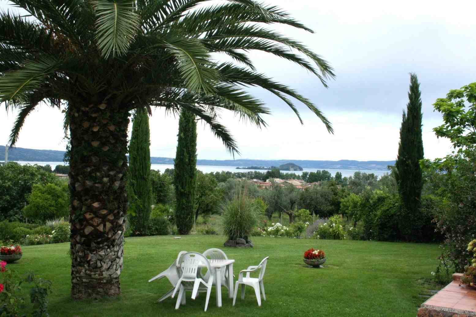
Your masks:
<svg viewBox="0 0 476 317"><path fill-rule="evenodd" d="M104 58L127 53L139 29L140 17L131 0L95 0L96 41Z"/></svg>

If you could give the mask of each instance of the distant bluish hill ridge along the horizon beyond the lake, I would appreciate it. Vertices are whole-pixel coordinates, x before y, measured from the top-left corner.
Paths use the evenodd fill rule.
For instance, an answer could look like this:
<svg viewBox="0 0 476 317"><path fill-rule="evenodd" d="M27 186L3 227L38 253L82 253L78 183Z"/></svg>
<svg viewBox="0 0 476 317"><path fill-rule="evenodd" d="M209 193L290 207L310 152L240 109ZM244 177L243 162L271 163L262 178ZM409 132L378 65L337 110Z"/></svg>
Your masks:
<svg viewBox="0 0 476 317"><path fill-rule="evenodd" d="M62 162L65 151L35 150L16 147L8 153L9 161L29 162ZM5 146L0 145L0 161L5 160ZM152 164L173 164L170 157L151 157ZM197 160L197 165L214 166L279 166L286 163L294 163L302 168L330 169L330 170L374 170L386 171L388 165L395 165L395 161L314 161L314 160Z"/></svg>

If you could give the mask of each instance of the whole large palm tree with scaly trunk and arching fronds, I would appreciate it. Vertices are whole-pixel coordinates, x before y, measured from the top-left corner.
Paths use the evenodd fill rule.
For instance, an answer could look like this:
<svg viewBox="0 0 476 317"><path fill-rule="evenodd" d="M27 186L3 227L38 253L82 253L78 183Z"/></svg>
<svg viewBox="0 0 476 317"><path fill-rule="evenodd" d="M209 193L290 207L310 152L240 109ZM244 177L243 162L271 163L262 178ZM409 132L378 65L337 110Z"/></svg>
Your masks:
<svg viewBox="0 0 476 317"><path fill-rule="evenodd" d="M131 110L187 109L237 153L217 110L266 125L261 115L268 108L240 88L261 86L288 104L301 122L289 96L304 103L332 132L311 101L257 73L246 54L263 50L286 58L326 85L334 74L325 60L265 25L311 30L279 8L254 0L197 8L206 1L11 0L31 16L0 13L0 102L7 111L19 110L10 144L40 105L65 108L71 140L73 298L120 293ZM214 52L241 65L218 63Z"/></svg>

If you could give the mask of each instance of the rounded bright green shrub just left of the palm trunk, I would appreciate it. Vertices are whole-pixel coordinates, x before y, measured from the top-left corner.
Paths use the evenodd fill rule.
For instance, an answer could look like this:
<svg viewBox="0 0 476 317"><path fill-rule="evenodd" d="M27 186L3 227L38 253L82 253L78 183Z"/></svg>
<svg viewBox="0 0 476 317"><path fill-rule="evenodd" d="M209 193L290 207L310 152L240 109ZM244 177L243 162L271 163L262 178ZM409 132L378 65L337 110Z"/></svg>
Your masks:
<svg viewBox="0 0 476 317"><path fill-rule="evenodd" d="M52 183L35 184L27 197L28 205L23 208L23 215L44 223L47 220L66 217L69 213L68 186Z"/></svg>

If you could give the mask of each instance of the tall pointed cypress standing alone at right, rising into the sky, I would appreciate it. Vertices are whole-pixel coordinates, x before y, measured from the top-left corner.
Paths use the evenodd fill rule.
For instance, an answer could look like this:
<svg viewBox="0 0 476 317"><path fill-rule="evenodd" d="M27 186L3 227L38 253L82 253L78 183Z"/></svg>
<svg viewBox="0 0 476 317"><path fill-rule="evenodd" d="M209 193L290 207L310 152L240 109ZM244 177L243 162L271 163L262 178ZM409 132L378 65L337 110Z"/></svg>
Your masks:
<svg viewBox="0 0 476 317"><path fill-rule="evenodd" d="M398 191L404 212L400 216L400 232L407 240L418 235L418 219L421 207L423 176L419 161L423 159L421 92L417 75L410 74L407 113L403 111L395 164Z"/></svg>

